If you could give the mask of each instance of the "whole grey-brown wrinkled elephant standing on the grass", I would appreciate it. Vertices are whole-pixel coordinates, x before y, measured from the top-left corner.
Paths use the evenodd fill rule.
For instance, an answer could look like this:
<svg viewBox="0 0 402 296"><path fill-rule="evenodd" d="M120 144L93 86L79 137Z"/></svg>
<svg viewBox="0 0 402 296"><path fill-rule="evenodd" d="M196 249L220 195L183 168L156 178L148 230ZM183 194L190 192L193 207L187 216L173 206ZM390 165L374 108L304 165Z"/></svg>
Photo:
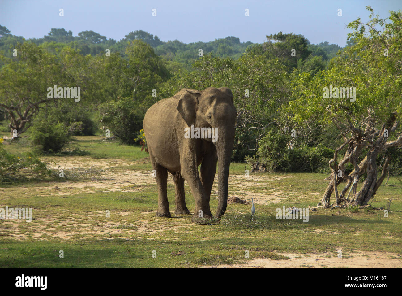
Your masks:
<svg viewBox="0 0 402 296"><path fill-rule="evenodd" d="M170 217L166 194L167 174L173 175L176 186L175 214L190 214L184 194L184 180L195 199L193 221L212 219L209 198L216 163L218 168L219 200L215 218L226 211L228 203L228 175L233 151L236 108L228 87L209 87L204 91L182 89L173 97L155 103L145 114L144 132L152 167L156 170L158 185L157 216ZM217 127L217 141L186 139L185 128ZM201 176L198 166L201 164Z"/></svg>

